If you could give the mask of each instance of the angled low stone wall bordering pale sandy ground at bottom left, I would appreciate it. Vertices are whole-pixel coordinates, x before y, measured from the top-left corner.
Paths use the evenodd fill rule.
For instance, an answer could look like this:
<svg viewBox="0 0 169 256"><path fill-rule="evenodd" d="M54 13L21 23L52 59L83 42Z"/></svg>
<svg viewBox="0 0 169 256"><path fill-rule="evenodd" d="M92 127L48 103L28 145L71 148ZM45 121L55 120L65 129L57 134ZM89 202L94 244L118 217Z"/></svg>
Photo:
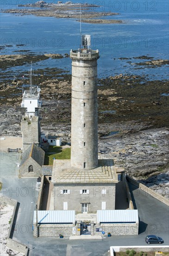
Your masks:
<svg viewBox="0 0 169 256"><path fill-rule="evenodd" d="M14 231L14 228L15 228L15 222L16 222L16 219L17 219L18 209L19 209L19 202L15 199L11 199L11 198L8 198L6 196L1 196L0 201L14 206L13 216L12 216L11 224L10 224L9 231L8 231L8 234L7 234L6 246L9 247L12 250L15 250L15 251L18 251L20 253L25 254L25 256L29 255L29 252L28 252L29 249L27 248L27 246L25 244L19 243L19 242L12 239L13 238L13 231Z"/></svg>

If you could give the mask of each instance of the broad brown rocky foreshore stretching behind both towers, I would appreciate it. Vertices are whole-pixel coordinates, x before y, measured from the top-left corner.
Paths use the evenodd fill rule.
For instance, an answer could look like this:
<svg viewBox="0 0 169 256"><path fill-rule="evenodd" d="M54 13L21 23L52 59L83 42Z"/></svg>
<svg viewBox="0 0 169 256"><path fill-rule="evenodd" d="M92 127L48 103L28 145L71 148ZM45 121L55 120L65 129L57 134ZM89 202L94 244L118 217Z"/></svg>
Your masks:
<svg viewBox="0 0 169 256"><path fill-rule="evenodd" d="M1 60L0 135L21 136L22 80L6 77L6 68L30 63L34 55L8 55ZM68 55L36 55L63 58ZM135 57L145 59L142 56ZM150 58L150 57L149 57ZM71 75L57 68L36 70L43 106L41 130L71 138ZM11 76L13 77L13 76ZM29 81L25 81L29 83ZM169 106L168 81L119 74L98 80L99 157L113 158L116 167L169 197Z"/></svg>

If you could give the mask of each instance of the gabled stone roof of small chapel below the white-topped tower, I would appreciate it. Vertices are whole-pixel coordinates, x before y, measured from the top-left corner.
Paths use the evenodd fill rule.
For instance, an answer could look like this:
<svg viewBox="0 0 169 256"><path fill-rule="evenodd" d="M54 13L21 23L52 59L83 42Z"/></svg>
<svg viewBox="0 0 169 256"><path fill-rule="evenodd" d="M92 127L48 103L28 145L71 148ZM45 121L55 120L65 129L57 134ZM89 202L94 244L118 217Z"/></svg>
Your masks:
<svg viewBox="0 0 169 256"><path fill-rule="evenodd" d="M32 158L35 162L37 162L40 166L44 164L44 150L39 148L35 143L32 143L29 148L27 148L20 162L20 166L22 166L28 158Z"/></svg>

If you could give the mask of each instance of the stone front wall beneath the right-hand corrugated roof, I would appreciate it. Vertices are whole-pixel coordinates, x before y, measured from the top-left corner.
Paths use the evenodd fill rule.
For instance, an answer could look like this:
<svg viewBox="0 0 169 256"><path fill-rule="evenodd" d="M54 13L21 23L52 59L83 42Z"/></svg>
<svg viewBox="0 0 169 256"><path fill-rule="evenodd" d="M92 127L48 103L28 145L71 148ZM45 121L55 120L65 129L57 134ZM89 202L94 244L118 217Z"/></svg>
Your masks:
<svg viewBox="0 0 169 256"><path fill-rule="evenodd" d="M107 235L108 232L112 236L119 235L138 235L138 223L110 223L94 225L94 236L102 236L101 232L96 232L96 228L102 228Z"/></svg>

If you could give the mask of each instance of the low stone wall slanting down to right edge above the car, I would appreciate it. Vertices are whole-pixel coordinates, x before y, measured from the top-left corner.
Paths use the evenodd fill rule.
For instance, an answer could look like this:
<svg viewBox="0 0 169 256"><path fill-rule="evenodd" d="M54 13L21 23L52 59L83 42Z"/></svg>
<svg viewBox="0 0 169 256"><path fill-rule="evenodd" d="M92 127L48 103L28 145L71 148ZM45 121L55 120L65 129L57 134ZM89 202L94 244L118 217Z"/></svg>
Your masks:
<svg viewBox="0 0 169 256"><path fill-rule="evenodd" d="M145 191L145 193L153 196L154 198L158 199L160 202L165 203L166 205L169 206L169 199L163 197L163 195L159 195L157 194L154 190L146 187L145 185L143 185L142 183L136 181L135 179L131 178L130 176L126 175L126 179L128 182L130 182L131 184L135 185L136 187L138 187L139 189L142 189L143 191Z"/></svg>

